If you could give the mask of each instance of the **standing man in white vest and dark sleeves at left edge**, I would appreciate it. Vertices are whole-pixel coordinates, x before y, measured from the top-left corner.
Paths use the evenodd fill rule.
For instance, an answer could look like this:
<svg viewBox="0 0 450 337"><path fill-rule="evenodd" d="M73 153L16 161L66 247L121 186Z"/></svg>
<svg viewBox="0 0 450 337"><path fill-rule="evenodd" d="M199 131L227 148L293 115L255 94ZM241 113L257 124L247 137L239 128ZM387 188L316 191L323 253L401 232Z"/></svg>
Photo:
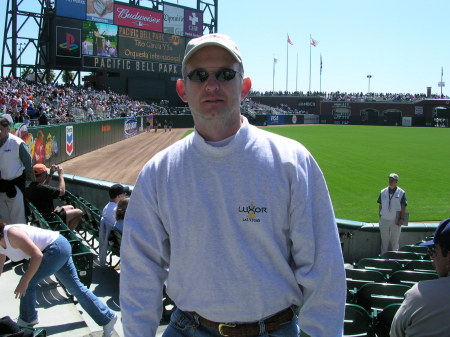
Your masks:
<svg viewBox="0 0 450 337"><path fill-rule="evenodd" d="M30 152L22 139L10 133L8 117L0 117L0 217L8 223L26 223L25 182L35 177Z"/></svg>

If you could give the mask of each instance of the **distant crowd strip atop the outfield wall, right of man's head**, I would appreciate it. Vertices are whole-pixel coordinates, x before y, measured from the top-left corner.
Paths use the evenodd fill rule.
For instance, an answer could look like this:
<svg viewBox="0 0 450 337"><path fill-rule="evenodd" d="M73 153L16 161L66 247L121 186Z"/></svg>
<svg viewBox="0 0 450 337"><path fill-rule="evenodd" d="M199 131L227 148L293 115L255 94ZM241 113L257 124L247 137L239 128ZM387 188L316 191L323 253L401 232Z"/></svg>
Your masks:
<svg viewBox="0 0 450 337"><path fill-rule="evenodd" d="M404 93L346 93L346 92L319 92L319 91L308 91L303 93L302 91L252 91L251 96L305 96L305 97L324 97L325 100L329 101L358 101L358 102L378 102L378 101L398 101L398 102L415 102L422 99L448 99L448 96L441 95L430 95L427 97L426 94L404 94Z"/></svg>

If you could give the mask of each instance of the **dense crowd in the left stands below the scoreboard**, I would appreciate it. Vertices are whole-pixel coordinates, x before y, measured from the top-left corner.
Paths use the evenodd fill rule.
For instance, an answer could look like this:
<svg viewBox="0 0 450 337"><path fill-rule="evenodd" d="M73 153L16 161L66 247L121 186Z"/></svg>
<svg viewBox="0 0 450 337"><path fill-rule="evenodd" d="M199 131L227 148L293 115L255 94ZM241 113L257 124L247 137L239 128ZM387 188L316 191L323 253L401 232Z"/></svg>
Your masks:
<svg viewBox="0 0 450 337"><path fill-rule="evenodd" d="M112 91L0 79L0 114L11 115L15 123L46 125L173 113L167 103L149 105Z"/></svg>

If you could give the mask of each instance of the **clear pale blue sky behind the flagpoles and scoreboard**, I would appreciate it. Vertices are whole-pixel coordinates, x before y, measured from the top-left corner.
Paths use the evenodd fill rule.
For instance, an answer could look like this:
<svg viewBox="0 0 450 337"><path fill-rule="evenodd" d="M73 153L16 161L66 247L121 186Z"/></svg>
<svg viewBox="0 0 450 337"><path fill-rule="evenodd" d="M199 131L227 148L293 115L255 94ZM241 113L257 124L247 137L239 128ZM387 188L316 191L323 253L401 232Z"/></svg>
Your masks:
<svg viewBox="0 0 450 337"><path fill-rule="evenodd" d="M287 78L289 91L308 91L310 34L318 42L311 48L312 91L367 92L371 75L372 92L426 93L432 87L440 94L442 67L443 81L450 77L449 0L219 0L218 8L218 31L239 45L254 90L284 91ZM1 1L0 40L5 10ZM287 45L288 34L293 45ZM443 94L450 95L446 84Z"/></svg>

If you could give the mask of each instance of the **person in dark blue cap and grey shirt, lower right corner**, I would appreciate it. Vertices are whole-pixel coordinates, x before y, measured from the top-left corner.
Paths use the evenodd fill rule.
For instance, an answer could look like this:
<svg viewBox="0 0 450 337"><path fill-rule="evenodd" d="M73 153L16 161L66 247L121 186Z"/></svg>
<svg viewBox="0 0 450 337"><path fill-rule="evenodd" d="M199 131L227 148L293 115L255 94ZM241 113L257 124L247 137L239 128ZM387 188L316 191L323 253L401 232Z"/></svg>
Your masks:
<svg viewBox="0 0 450 337"><path fill-rule="evenodd" d="M428 246L439 279L416 283L405 294L391 325L391 337L448 336L450 321L450 219L443 220Z"/></svg>

